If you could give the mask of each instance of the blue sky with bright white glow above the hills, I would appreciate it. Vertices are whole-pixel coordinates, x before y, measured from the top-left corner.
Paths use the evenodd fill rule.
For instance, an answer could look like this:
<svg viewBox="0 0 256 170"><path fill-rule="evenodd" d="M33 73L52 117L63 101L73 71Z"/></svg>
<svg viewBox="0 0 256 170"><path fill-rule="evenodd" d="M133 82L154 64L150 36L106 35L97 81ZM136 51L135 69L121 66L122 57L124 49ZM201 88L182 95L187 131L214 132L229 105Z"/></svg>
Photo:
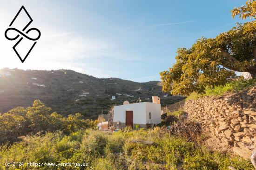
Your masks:
<svg viewBox="0 0 256 170"><path fill-rule="evenodd" d="M159 81L159 73L175 63L178 48L190 48L198 38L214 38L241 23L230 11L244 4L245 0L0 0L0 68L72 69L99 78ZM24 63L12 48L18 39L4 36L21 6L33 19L25 31L41 32ZM12 27L21 31L27 23L25 13L14 23ZM33 43L23 38L17 50L25 56Z"/></svg>

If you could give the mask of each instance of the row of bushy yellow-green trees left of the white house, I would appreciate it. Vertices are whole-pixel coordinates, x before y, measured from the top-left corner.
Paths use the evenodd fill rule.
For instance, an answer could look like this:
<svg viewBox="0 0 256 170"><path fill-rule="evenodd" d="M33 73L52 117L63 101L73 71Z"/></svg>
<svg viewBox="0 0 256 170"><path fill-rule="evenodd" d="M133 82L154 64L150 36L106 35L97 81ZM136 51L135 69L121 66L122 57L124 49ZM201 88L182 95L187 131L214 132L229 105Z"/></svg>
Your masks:
<svg viewBox="0 0 256 170"><path fill-rule="evenodd" d="M61 131L70 134L81 129L96 126L96 121L85 120L80 113L63 117L50 113L51 108L35 100L32 107L17 107L0 114L0 144L19 141L19 137L29 134Z"/></svg>

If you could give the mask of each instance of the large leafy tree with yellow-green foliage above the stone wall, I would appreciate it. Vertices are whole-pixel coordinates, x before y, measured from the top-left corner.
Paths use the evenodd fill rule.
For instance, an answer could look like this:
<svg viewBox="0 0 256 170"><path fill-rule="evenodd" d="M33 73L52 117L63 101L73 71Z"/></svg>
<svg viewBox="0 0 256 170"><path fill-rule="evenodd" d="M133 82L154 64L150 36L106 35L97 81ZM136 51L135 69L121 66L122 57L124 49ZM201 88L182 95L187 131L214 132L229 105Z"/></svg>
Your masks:
<svg viewBox="0 0 256 170"><path fill-rule="evenodd" d="M256 0L234 8L232 17L256 18ZM176 63L160 73L162 90L172 94L204 93L205 88L226 82L235 71L256 77L256 21L237 24L216 38L198 39L191 48L179 48Z"/></svg>

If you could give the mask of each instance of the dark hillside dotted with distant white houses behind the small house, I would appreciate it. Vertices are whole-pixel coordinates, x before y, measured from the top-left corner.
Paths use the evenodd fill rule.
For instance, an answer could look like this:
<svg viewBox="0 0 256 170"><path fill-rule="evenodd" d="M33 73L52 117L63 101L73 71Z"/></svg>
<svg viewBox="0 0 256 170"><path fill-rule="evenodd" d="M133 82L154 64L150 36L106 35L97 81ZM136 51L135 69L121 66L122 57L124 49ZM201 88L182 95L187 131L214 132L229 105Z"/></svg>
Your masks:
<svg viewBox="0 0 256 170"><path fill-rule="evenodd" d="M101 110L107 113L112 105L120 105L125 100L136 102L139 97L142 101L150 101L151 96L158 95L163 106L176 102L177 99L163 97L165 93L160 84L157 81L139 83L96 78L64 69L0 69L0 113L18 106L31 106L34 100L40 99L52 111L63 115L81 113L95 119ZM112 95L116 97L113 101Z"/></svg>

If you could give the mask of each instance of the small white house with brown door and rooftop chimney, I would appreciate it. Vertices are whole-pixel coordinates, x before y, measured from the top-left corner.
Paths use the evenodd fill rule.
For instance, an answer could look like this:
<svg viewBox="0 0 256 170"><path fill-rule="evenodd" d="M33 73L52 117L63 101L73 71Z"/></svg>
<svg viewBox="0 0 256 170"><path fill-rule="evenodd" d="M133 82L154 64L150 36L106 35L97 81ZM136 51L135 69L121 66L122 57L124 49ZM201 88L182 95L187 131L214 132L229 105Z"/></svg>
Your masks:
<svg viewBox="0 0 256 170"><path fill-rule="evenodd" d="M161 104L160 98L153 96L153 102L141 102L124 104L114 107L113 125L123 128L131 126L135 128L147 127L147 124L161 123Z"/></svg>

